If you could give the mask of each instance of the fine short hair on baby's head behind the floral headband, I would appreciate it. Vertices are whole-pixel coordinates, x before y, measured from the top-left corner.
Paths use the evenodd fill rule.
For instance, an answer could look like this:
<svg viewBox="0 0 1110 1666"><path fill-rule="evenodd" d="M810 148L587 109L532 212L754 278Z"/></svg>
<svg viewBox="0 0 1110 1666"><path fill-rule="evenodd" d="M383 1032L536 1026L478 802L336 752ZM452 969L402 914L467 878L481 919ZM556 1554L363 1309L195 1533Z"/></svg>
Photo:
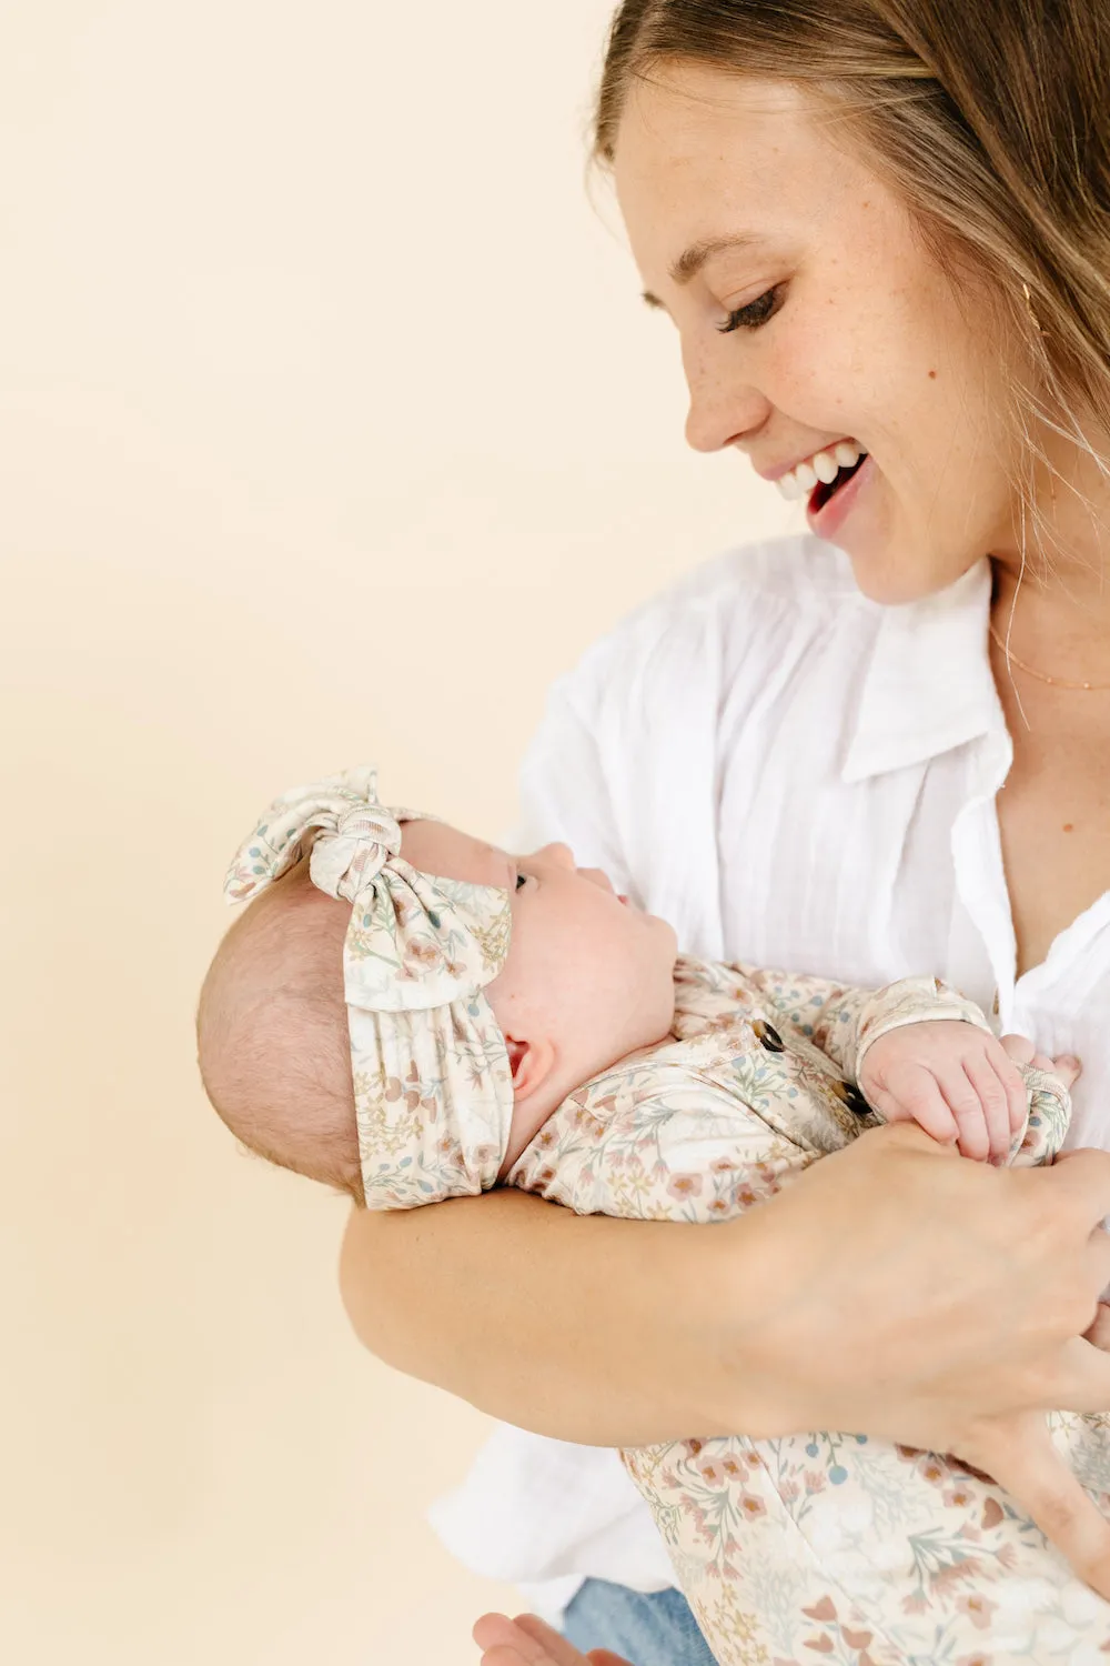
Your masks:
<svg viewBox="0 0 1110 1666"><path fill-rule="evenodd" d="M196 1013L213 1108L258 1156L363 1205L343 998L349 905L296 870L235 921Z"/></svg>

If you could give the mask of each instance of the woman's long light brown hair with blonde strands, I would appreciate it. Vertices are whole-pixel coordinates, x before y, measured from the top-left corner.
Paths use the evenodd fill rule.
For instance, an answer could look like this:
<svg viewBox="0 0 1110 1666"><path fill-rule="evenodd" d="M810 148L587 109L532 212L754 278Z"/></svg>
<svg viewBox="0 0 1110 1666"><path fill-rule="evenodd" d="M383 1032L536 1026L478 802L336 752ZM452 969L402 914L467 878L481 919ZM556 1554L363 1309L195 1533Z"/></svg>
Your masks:
<svg viewBox="0 0 1110 1666"><path fill-rule="evenodd" d="M624 0L594 150L631 88L676 63L805 85L844 113L942 268L1020 332L1030 420L1110 435L1110 0ZM1105 466L1105 460L1103 460Z"/></svg>

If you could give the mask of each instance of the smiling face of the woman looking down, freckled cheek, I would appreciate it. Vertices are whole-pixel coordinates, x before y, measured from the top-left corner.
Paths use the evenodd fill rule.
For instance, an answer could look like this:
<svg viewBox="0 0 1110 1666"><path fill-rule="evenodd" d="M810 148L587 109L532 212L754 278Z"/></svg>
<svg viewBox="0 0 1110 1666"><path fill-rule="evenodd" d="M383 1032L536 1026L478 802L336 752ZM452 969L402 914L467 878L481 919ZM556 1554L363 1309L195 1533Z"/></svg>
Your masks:
<svg viewBox="0 0 1110 1666"><path fill-rule="evenodd" d="M879 601L1013 550L1015 367L844 125L785 83L676 67L631 93L616 183L682 340L696 450L736 446L777 480L855 441L867 461L824 505L804 470L785 486Z"/></svg>

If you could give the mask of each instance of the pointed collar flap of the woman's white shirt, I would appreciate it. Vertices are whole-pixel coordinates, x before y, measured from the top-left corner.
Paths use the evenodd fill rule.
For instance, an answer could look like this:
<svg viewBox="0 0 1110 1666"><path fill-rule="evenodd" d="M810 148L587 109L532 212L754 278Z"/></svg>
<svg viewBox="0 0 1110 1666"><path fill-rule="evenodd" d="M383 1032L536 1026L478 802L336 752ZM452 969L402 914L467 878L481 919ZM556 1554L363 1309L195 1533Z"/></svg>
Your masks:
<svg viewBox="0 0 1110 1666"><path fill-rule="evenodd" d="M989 623L985 560L935 596L882 610L845 781L924 763L1005 730L987 653Z"/></svg>

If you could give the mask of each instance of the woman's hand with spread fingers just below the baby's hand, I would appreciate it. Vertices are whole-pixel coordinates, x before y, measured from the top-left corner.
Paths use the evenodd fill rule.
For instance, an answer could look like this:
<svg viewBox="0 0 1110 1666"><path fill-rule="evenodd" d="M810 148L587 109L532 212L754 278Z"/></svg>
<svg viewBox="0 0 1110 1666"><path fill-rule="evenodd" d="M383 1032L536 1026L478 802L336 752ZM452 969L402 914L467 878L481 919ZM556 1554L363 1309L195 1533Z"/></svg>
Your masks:
<svg viewBox="0 0 1110 1666"><path fill-rule="evenodd" d="M835 1191L817 1198L824 1186ZM809 1396L769 1423L954 1453L1003 1486L1078 1576L1110 1598L1110 1524L1043 1418L1052 1408L1110 1408L1110 1358L1100 1351L1108 1314L1098 1303L1110 1279L1102 1230L1110 1158L1072 1151L1052 1168L994 1170L904 1123L815 1163L776 1201L780 1245L809 1243L817 1256L815 1220L829 1240L810 1288L797 1289L787 1266L784 1284L797 1298L776 1306L769 1291L764 1336L749 1336L756 1351L769 1346L785 1358L809 1333L820 1361ZM932 1269L922 1281L924 1205L942 1213L929 1226ZM954 1251L970 1261L957 1264ZM869 1293L859 1318L842 1294L852 1286ZM879 1313L885 1324L875 1323ZM776 1378L785 1389L777 1369Z"/></svg>

